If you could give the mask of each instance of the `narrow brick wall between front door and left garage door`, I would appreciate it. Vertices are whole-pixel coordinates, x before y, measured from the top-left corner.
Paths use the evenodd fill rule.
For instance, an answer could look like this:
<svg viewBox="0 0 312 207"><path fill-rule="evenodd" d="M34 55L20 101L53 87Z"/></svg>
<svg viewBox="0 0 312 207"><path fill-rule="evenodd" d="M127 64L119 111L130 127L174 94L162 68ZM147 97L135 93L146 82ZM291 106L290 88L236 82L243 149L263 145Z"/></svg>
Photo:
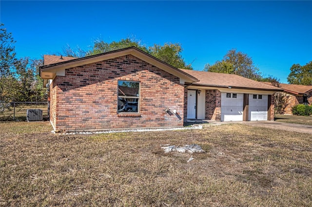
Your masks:
<svg viewBox="0 0 312 207"><path fill-rule="evenodd" d="M206 119L221 121L221 92L206 90Z"/></svg>

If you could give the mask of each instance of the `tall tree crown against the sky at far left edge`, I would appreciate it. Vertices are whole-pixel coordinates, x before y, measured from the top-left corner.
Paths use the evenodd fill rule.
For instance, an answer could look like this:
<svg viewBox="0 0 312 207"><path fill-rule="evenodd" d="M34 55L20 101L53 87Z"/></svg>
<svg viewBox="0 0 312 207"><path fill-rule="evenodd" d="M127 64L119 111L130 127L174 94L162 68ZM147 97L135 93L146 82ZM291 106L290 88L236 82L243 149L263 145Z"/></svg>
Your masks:
<svg viewBox="0 0 312 207"><path fill-rule="evenodd" d="M16 53L12 33L7 33L0 23L0 78L12 75L11 68L16 62Z"/></svg>

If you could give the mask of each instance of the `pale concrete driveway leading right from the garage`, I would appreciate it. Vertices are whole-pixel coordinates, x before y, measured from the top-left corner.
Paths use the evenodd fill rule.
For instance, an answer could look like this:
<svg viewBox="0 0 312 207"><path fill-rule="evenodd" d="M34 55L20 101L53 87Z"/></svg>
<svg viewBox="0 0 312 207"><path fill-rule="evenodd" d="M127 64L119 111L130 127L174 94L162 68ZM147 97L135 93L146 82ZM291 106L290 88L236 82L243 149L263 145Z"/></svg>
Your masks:
<svg viewBox="0 0 312 207"><path fill-rule="evenodd" d="M268 127L286 131L312 134L312 125L306 124L292 124L273 121L257 121L257 122L241 122L241 123L251 126Z"/></svg>

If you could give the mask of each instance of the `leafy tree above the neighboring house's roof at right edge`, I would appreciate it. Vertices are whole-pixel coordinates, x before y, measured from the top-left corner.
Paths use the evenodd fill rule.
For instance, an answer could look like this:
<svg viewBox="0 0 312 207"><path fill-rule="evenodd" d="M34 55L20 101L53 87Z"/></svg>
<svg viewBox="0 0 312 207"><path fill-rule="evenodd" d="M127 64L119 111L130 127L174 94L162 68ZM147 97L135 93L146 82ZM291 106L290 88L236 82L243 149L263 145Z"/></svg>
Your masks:
<svg viewBox="0 0 312 207"><path fill-rule="evenodd" d="M287 81L290 84L312 85L312 61L303 66L293 64Z"/></svg>

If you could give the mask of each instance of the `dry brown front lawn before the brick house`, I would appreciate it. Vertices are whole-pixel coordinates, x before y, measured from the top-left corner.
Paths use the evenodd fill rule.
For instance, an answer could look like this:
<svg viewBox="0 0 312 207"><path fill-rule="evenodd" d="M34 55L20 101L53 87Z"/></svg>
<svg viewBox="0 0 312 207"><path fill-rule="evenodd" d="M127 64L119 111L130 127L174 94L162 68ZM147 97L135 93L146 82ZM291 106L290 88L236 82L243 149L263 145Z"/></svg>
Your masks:
<svg viewBox="0 0 312 207"><path fill-rule="evenodd" d="M52 135L0 123L1 206L312 206L312 136L241 124ZM160 144L207 152L164 154Z"/></svg>

